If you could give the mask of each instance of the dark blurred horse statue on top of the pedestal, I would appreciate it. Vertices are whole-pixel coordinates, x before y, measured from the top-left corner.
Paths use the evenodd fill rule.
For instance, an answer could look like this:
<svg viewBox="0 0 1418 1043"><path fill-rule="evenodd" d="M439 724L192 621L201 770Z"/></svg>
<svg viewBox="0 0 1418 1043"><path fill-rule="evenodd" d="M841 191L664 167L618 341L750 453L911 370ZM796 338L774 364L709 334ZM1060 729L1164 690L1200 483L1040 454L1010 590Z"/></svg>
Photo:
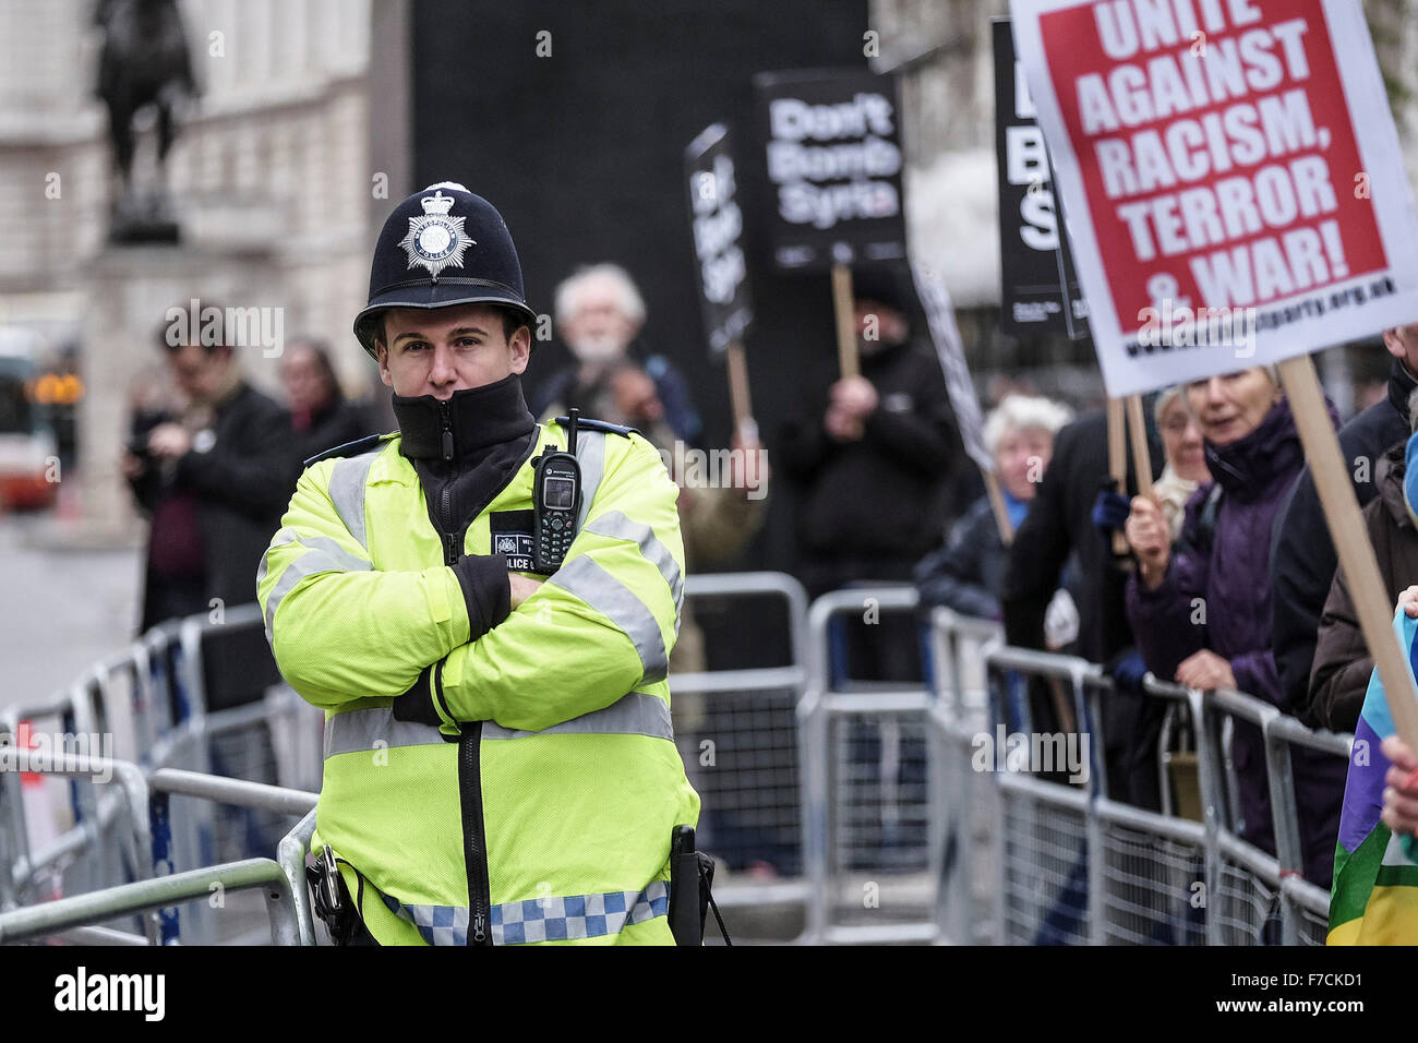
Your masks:
<svg viewBox="0 0 1418 1043"><path fill-rule="evenodd" d="M108 106L109 143L119 182L115 186L109 240L118 243L177 241L162 175L177 136L174 109L201 91L193 77L187 37L176 0L98 0L94 23L104 30L98 96ZM133 119L157 111L159 183L133 184L136 135Z"/></svg>

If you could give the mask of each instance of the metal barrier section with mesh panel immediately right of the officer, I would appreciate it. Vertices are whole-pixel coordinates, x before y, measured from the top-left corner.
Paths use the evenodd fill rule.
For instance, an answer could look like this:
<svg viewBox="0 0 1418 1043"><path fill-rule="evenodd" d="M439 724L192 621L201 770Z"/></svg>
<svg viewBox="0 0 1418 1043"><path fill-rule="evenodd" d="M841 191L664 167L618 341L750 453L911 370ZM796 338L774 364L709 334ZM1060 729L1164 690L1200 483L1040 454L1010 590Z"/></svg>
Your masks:
<svg viewBox="0 0 1418 1043"><path fill-rule="evenodd" d="M726 874L715 881L715 901L803 905L797 708L807 678L807 593L787 573L725 572L689 576L685 597L771 597L787 610L787 666L676 673L669 687L676 744L703 803L699 847L729 857L733 868L757 863L777 874L773 883Z"/></svg>

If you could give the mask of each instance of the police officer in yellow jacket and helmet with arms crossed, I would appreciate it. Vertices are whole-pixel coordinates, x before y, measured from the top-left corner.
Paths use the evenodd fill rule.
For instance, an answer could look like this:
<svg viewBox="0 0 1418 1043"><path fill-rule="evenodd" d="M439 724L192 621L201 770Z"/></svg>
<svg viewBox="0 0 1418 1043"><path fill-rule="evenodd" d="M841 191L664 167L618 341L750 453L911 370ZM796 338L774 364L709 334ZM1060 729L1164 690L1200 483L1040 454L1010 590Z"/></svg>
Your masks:
<svg viewBox="0 0 1418 1043"><path fill-rule="evenodd" d="M257 576L281 671L326 711L313 850L379 944L672 944L671 833L699 815L665 680L676 488L642 437L583 421L574 539L535 559L536 461L569 438L522 396L532 321L486 200L400 203L354 319L398 431L308 461Z"/></svg>

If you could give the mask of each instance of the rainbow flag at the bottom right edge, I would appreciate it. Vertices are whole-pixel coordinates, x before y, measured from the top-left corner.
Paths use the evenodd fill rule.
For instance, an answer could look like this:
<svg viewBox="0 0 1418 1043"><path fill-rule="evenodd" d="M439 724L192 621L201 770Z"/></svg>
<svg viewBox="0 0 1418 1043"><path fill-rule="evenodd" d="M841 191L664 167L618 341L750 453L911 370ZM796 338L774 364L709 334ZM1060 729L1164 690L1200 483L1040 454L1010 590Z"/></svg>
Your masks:
<svg viewBox="0 0 1418 1043"><path fill-rule="evenodd" d="M1408 649L1412 671L1418 619L1408 619L1400 610L1394 614L1394 630ZM1418 850L1412 837L1395 837L1378 820L1384 810L1384 775L1391 763L1380 744L1395 731L1384 685L1374 670L1354 728L1344 783L1330 891L1330 945L1418 944L1418 861L1411 857Z"/></svg>

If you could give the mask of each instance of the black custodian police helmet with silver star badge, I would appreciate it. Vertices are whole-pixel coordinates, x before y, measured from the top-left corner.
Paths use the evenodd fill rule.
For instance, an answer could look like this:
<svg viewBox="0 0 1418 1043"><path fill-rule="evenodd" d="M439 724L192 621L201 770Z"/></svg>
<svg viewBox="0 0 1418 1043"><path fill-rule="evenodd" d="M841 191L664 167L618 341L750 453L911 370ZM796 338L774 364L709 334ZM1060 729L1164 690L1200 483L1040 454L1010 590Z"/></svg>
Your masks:
<svg viewBox="0 0 1418 1043"><path fill-rule="evenodd" d="M406 199L384 221L354 336L373 356L384 309L454 304L505 305L536 322L502 214L464 186L440 182Z"/></svg>

